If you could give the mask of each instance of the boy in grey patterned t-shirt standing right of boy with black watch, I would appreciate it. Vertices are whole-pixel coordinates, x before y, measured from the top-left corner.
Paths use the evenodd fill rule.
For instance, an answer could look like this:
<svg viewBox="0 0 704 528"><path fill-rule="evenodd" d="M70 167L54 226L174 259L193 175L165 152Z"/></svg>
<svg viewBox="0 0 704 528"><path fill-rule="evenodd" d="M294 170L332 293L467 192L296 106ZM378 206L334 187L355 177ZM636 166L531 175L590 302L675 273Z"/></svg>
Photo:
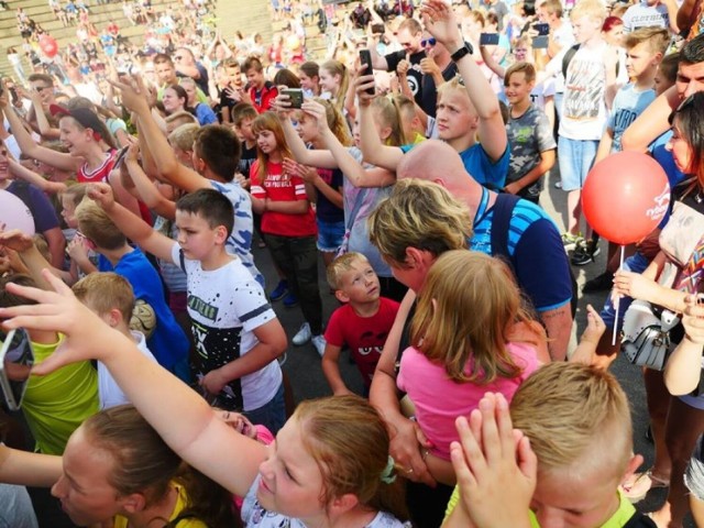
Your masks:
<svg viewBox="0 0 704 528"><path fill-rule="evenodd" d="M554 165L558 145L548 117L530 99L536 68L525 62L513 64L506 70L504 86L510 103L506 133L512 145L504 190L538 205L542 176Z"/></svg>

